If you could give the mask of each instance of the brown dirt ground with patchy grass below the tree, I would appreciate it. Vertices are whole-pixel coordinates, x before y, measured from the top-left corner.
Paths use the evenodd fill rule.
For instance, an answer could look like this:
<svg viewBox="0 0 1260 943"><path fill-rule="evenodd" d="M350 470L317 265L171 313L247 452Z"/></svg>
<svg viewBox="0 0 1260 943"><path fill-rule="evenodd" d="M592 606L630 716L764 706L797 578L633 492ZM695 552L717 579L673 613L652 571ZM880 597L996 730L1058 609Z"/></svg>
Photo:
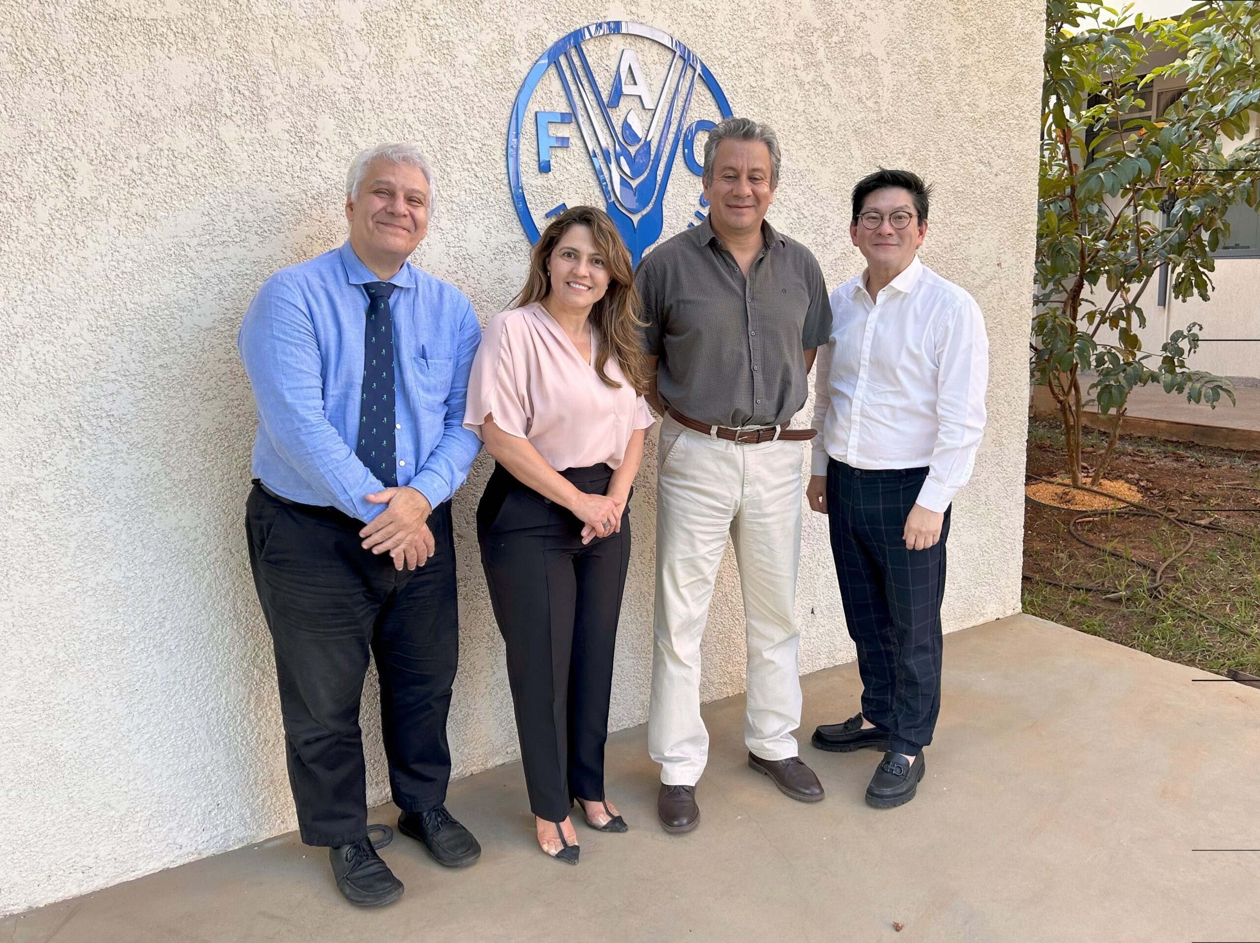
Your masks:
<svg viewBox="0 0 1260 943"><path fill-rule="evenodd" d="M1101 436L1085 444L1096 462ZM1065 468L1062 433L1034 421L1029 481ZM1260 675L1260 453L1125 437L1108 477L1174 520L1027 501L1024 611L1183 665Z"/></svg>

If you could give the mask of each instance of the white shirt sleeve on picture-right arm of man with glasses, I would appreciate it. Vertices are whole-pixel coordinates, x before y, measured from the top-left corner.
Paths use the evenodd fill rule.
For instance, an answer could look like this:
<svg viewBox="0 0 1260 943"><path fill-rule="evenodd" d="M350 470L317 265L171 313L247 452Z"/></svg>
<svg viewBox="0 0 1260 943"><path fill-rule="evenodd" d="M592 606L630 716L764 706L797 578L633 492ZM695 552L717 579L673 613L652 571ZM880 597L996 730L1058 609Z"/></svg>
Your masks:
<svg viewBox="0 0 1260 943"><path fill-rule="evenodd" d="M980 308L970 296L939 321L935 341L939 431L916 504L944 512L971 477L984 434L989 337Z"/></svg>

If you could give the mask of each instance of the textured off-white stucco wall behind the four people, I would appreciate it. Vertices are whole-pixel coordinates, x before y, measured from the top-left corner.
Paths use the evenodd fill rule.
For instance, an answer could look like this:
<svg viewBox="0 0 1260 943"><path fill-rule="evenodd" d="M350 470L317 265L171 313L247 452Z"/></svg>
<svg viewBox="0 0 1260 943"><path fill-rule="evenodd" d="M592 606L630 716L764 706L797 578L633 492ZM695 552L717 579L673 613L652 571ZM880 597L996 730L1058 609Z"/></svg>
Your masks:
<svg viewBox="0 0 1260 943"><path fill-rule="evenodd" d="M777 127L771 219L830 285L859 269L845 219L861 174L905 165L936 183L924 258L979 300L993 347L948 624L1014 612L1041 16L1040 0L523 0L510 13L0 0L0 913L294 827L242 528L255 419L241 315L272 271L343 239L346 162L398 138L421 141L442 180L416 261L483 320L499 311L527 253L503 170L509 110L534 59L587 23L672 33L737 113ZM648 708L651 453L644 467L615 728ZM472 539L485 475L481 460L455 504L457 776L517 753ZM852 646L823 519L806 519L804 541L800 657L814 671ZM740 626L728 560L706 699L742 687ZM377 802L370 706L364 725Z"/></svg>

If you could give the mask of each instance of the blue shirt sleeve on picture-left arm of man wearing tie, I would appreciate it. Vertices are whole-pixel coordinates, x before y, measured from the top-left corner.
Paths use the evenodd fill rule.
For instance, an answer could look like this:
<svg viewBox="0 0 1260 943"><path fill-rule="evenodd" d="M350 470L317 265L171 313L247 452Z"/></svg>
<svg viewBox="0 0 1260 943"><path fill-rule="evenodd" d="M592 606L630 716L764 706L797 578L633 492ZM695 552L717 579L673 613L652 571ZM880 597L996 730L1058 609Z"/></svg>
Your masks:
<svg viewBox="0 0 1260 943"><path fill-rule="evenodd" d="M362 521L384 505L364 495L384 485L359 461L324 413L320 349L300 292L272 276L241 322L237 350L258 405L258 423L276 452L328 504Z"/></svg>

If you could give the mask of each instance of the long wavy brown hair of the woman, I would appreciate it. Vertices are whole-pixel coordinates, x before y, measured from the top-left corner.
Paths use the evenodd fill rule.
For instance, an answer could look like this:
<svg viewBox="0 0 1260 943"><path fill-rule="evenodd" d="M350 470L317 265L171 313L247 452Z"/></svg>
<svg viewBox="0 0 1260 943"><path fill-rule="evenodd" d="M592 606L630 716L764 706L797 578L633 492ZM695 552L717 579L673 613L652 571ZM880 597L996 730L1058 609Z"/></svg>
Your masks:
<svg viewBox="0 0 1260 943"><path fill-rule="evenodd" d="M639 292L634 287L634 267L630 264L630 253L626 251L625 243L621 242L621 234L604 210L595 206L573 206L552 220L534 244L533 252L529 253L529 277L525 278L525 287L517 295L512 306L523 307L547 297L551 292L547 261L561 237L575 225L585 225L591 230L591 240L604 257L604 267L609 273L609 290L591 307L591 324L598 336L598 345L595 349L595 371L605 385L614 389L620 388L621 384L609 376L604 369L609 358L612 358L635 392L640 395L645 394L648 392L648 361L644 359L640 346L639 329L643 327L643 321L639 320L639 311L641 302Z"/></svg>

